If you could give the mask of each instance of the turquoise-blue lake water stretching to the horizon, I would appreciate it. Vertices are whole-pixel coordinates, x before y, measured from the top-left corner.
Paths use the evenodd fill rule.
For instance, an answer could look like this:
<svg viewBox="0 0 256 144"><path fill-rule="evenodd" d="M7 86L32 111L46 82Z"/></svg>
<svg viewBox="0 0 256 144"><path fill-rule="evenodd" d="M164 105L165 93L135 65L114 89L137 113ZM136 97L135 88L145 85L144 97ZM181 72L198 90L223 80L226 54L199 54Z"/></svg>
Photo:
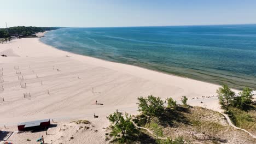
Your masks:
<svg viewBox="0 0 256 144"><path fill-rule="evenodd" d="M107 61L256 88L256 25L62 28L40 41Z"/></svg>

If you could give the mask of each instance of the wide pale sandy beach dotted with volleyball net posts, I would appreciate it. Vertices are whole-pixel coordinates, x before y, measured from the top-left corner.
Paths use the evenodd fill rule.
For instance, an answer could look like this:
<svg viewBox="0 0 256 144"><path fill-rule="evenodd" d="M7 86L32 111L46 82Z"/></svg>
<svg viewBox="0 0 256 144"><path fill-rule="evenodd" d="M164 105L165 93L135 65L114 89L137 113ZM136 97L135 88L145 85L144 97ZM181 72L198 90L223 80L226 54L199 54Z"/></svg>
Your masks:
<svg viewBox="0 0 256 144"><path fill-rule="evenodd" d="M15 130L19 122L45 118L91 119L95 113L102 129L109 113L136 114L137 97L150 94L163 100L185 95L190 105L221 111L217 97L193 99L216 95L218 85L61 51L39 38L0 44L0 54L7 55L0 57L0 127Z"/></svg>

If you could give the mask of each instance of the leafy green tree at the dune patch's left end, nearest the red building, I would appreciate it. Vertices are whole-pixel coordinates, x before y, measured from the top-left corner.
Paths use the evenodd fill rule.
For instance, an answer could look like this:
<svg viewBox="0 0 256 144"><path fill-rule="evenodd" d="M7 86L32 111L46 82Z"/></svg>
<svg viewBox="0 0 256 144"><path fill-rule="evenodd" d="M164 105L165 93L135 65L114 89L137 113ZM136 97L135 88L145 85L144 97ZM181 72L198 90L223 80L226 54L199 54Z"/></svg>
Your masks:
<svg viewBox="0 0 256 144"><path fill-rule="evenodd" d="M120 112L114 112L110 114L107 119L112 123L112 134L117 137L121 134L120 142L125 142L127 138L136 133L136 127L131 121L131 115L125 113L125 117Z"/></svg>

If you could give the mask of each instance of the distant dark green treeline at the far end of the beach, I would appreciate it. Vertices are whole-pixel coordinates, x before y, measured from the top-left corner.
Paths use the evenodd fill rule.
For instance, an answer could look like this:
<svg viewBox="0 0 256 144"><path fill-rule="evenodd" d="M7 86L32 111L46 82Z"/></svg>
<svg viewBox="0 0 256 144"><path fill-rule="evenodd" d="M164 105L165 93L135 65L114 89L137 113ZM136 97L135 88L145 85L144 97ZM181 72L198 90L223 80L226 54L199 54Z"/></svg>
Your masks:
<svg viewBox="0 0 256 144"><path fill-rule="evenodd" d="M30 36L37 32L45 32L54 29L59 29L60 27L9 27L9 28L0 28L0 38L9 38L10 35L19 34L24 37Z"/></svg>

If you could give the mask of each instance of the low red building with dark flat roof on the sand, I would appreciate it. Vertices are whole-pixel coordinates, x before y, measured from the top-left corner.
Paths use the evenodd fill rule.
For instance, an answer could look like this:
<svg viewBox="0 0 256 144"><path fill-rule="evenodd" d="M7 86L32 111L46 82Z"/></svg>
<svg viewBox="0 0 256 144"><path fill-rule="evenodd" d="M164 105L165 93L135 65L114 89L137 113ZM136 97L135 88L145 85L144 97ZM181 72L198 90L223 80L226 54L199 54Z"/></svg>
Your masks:
<svg viewBox="0 0 256 144"><path fill-rule="evenodd" d="M50 127L50 119L42 119L38 121L24 122L18 124L19 131L38 130Z"/></svg>

